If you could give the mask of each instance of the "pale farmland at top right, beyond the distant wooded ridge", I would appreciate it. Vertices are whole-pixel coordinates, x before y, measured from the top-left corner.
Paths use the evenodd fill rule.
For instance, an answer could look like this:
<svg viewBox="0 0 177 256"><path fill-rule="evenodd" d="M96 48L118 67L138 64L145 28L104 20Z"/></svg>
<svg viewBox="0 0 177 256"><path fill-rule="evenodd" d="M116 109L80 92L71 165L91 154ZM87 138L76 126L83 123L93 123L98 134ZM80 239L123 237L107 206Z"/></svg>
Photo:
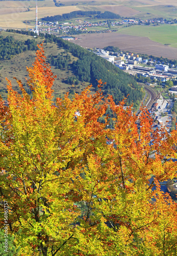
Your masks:
<svg viewBox="0 0 177 256"><path fill-rule="evenodd" d="M177 17L177 2L175 0L138 0L138 1L60 1L60 3L69 5L76 5L82 10L95 11L110 11L119 14L123 17L139 17L139 18L176 18Z"/></svg>

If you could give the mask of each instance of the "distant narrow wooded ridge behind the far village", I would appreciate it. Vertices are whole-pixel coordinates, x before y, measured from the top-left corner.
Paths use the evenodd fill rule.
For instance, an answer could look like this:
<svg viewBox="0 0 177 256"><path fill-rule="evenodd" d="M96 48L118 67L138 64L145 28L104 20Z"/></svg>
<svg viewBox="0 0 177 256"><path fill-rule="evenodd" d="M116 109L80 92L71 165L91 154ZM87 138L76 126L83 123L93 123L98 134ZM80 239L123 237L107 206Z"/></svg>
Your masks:
<svg viewBox="0 0 177 256"><path fill-rule="evenodd" d="M89 17L93 16L94 18L100 19L111 19L111 18L120 18L118 14L105 11L101 13L100 11L73 11L70 13L64 13L62 15L54 15L47 16L42 18L41 20L45 20L46 22L63 22L64 20L68 20L71 18L79 18L79 17Z"/></svg>

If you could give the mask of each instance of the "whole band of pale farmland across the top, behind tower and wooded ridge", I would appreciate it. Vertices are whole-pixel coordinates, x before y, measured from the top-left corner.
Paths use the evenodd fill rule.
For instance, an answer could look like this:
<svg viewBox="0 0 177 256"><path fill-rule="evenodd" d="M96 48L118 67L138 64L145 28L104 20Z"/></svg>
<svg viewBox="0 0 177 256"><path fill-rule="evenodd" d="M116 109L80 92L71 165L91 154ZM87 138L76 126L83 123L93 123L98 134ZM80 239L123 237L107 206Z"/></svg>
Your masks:
<svg viewBox="0 0 177 256"><path fill-rule="evenodd" d="M45 16L58 15L71 11L111 11L123 17L139 18L176 18L177 2L175 0L137 0L137 1L56 1L62 6L57 7L53 0L38 1L38 19ZM0 27L24 29L26 21L35 21L35 1L0 1ZM34 24L32 24L32 27Z"/></svg>

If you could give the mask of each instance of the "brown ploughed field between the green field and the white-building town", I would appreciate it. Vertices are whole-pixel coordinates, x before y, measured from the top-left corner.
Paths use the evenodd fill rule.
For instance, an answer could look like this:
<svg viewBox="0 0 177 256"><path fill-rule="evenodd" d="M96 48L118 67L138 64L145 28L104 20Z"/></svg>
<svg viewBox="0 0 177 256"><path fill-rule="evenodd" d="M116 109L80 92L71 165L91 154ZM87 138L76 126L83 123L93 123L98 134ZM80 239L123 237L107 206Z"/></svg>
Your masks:
<svg viewBox="0 0 177 256"><path fill-rule="evenodd" d="M87 48L104 48L106 46L119 47L121 50L144 53L169 59L177 59L177 48L172 48L150 40L148 37L125 35L117 32L102 34L79 35L74 44Z"/></svg>

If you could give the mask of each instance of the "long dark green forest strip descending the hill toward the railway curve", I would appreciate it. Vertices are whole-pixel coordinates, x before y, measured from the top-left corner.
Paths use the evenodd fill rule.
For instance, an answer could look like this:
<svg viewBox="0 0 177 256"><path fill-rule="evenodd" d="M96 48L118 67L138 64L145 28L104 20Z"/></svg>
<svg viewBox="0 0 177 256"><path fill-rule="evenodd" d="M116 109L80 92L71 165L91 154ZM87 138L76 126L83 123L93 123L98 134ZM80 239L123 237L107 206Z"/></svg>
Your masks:
<svg viewBox="0 0 177 256"><path fill-rule="evenodd" d="M143 90L135 78L124 73L104 58L97 56L93 52L89 52L87 49L83 49L80 46L53 35L46 34L45 38L49 41L55 41L59 47L79 58L70 65L79 80L92 83L92 86L96 89L97 80L102 79L103 82L106 82L103 87L104 93L111 94L116 103L129 95L127 104L130 105L132 101L135 105L139 104L139 100L143 97ZM68 65L67 57L63 55L53 56L50 63L57 68Z"/></svg>

